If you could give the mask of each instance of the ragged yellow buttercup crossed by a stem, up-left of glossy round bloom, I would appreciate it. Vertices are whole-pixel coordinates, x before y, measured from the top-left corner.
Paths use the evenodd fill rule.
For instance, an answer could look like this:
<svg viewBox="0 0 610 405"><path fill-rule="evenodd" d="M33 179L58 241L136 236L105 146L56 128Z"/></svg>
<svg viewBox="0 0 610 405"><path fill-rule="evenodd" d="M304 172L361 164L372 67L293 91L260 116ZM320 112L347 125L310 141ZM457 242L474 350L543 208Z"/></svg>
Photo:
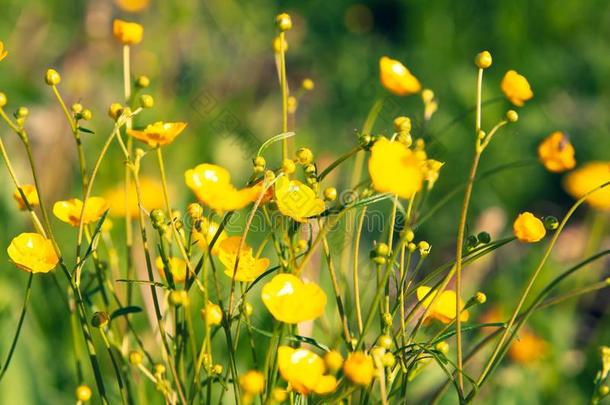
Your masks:
<svg viewBox="0 0 610 405"><path fill-rule="evenodd" d="M233 277L235 274L236 281L254 281L258 276L263 274L269 267L269 259L263 257L257 259L252 256L252 248L244 243L239 251L239 263L237 271L235 271L235 261L237 258L237 250L241 243L241 236L231 236L220 242L218 248L218 258L225 266L225 274Z"/></svg>

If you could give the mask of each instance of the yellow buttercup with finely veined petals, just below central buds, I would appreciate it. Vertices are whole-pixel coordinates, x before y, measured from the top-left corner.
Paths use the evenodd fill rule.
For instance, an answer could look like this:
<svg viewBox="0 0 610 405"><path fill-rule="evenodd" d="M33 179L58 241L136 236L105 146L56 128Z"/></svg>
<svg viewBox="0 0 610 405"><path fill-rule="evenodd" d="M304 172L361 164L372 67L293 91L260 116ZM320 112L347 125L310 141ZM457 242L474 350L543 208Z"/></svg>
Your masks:
<svg viewBox="0 0 610 405"><path fill-rule="evenodd" d="M274 187L277 208L298 222L307 222L309 217L319 215L324 211L324 200L307 185L298 180L280 177Z"/></svg>

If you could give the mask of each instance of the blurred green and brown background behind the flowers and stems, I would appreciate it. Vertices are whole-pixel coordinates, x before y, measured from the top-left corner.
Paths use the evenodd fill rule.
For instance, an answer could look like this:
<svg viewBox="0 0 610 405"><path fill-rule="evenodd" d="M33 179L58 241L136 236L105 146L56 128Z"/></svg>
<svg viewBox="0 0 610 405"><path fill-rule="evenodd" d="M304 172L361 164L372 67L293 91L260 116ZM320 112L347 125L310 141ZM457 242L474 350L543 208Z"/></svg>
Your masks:
<svg viewBox="0 0 610 405"><path fill-rule="evenodd" d="M30 109L28 128L43 168L44 188L51 196L47 200L77 193L79 183L73 141L44 84L44 73L49 67L57 69L67 102L80 101L93 111L89 126L96 134L85 134L84 140L92 161L112 126L106 110L123 98L121 47L111 35L115 17L145 27L144 41L133 49L132 71L151 78L147 92L154 96L156 106L137 123L180 120L189 124L178 141L166 148L175 205L184 207L193 200L182 178L184 170L198 163L221 164L231 170L236 183L245 181L251 170L251 137L260 143L281 132L271 48L274 17L281 11L288 11L294 22L288 33L289 84L296 89L305 77L316 84L313 92L299 98L293 123L295 144L311 147L322 165L355 144L369 108L383 97L385 108L374 132L391 133L395 116L413 118L414 134L431 141L430 155L446 162L430 204L439 200L443 192L464 181L470 164L473 58L484 49L494 58L485 73L483 98L491 102L484 108L484 127L491 127L510 108L499 89L508 69L529 79L534 99L519 110L519 122L494 141L481 170L535 159L537 144L555 130L570 135L578 162L609 159L607 1L151 0L144 11L128 13L110 0L0 0L0 40L9 51L0 62L0 91L8 95L9 111L21 105ZM404 62L426 88L434 90L439 111L425 130L420 125L418 96L388 96L379 85L378 60L383 55ZM456 117L461 119L454 121ZM4 125L0 136L26 180L26 160L16 137ZM273 158L269 160L273 163ZM349 168L346 164L342 176L332 180L339 189L347 183ZM154 166L144 171L157 175ZM0 246L7 246L29 224L16 211L12 184L4 169L2 173ZM121 173L122 159L115 150L100 172L96 191L102 193L119 181ZM510 222L520 211L561 216L572 201L561 188L561 178L533 164L477 184L469 228L488 230L495 238L510 232ZM458 200L439 211L418 234L434 246L439 261L452 254ZM572 239L560 244L560 255L554 258L556 265L548 266L548 277L581 258L587 249L598 251L602 244L607 248L606 220L607 215L579 211L569 229ZM596 246L583 246L592 223L601 224L605 238L598 238ZM62 229L69 243L71 230ZM488 305L509 311L539 255L538 247L505 249L475 268L481 273L473 275L473 287L467 287L467 293L481 288L488 295ZM8 264L4 249L0 263L5 263L0 266L3 359L26 275ZM574 285L596 281L603 271L598 265ZM66 338L69 323L57 301L50 280L35 280L33 307L13 368L0 383L0 403L72 401L75 381ZM493 397L487 390L481 403L584 403L599 366L596 348L610 343L607 307L607 296L599 293L536 315L532 329L548 342L548 353L525 365L507 361L496 374Z"/></svg>

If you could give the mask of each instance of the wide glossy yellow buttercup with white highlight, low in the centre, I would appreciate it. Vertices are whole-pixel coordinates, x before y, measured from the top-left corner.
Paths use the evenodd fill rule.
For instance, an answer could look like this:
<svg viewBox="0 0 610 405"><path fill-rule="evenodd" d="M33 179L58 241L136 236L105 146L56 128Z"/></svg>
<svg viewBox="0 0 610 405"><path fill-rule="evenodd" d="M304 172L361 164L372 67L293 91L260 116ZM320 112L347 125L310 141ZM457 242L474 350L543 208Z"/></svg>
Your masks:
<svg viewBox="0 0 610 405"><path fill-rule="evenodd" d="M317 284L285 273L263 286L261 298L271 315L286 323L316 319L326 306L326 294Z"/></svg>

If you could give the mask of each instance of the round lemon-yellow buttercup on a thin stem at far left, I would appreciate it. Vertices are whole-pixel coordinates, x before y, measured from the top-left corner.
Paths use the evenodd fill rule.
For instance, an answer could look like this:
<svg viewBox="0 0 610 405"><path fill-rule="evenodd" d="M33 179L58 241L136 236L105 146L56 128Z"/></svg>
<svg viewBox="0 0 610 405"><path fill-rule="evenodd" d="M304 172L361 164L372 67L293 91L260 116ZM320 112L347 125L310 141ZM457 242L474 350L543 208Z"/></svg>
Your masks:
<svg viewBox="0 0 610 405"><path fill-rule="evenodd" d="M53 242L38 233L13 238L7 252L17 267L30 273L48 273L59 262Z"/></svg>

